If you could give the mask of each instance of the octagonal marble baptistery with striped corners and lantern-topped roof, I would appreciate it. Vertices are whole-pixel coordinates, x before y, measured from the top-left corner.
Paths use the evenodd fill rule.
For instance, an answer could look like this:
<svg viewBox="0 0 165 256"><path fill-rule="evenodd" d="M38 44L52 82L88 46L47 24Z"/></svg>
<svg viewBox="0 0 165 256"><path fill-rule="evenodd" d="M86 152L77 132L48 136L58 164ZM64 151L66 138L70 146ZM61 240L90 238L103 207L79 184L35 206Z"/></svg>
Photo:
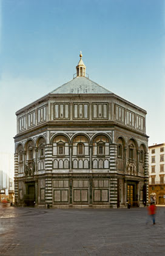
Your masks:
<svg viewBox="0 0 165 256"><path fill-rule="evenodd" d="M127 207L147 201L146 111L86 75L16 112L15 204Z"/></svg>

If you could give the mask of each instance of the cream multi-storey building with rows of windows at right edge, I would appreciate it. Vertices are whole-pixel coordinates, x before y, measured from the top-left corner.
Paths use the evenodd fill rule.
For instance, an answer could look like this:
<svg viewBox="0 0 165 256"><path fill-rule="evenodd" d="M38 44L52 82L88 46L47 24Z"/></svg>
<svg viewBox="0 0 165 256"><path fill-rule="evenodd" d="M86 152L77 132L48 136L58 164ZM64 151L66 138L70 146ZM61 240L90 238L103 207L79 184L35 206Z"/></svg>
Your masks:
<svg viewBox="0 0 165 256"><path fill-rule="evenodd" d="M156 194L156 203L165 203L165 143L149 146L149 194Z"/></svg>

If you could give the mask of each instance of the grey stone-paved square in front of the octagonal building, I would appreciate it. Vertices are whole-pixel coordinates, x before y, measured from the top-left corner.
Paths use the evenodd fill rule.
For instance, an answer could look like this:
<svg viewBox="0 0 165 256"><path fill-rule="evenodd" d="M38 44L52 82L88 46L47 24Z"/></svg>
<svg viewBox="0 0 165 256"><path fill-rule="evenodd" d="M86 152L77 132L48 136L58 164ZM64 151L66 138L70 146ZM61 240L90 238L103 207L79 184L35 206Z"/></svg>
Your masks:
<svg viewBox="0 0 165 256"><path fill-rule="evenodd" d="M165 255L165 207L35 209L0 206L0 255Z"/></svg>

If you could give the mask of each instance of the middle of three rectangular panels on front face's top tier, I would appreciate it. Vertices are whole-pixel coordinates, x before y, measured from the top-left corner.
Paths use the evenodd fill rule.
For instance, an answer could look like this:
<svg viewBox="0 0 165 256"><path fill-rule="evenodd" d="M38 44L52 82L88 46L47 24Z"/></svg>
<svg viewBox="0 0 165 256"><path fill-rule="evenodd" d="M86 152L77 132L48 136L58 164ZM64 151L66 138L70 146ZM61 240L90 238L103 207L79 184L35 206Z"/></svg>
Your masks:
<svg viewBox="0 0 165 256"><path fill-rule="evenodd" d="M88 103L77 103L73 104L73 118L87 119L89 118L89 104Z"/></svg>

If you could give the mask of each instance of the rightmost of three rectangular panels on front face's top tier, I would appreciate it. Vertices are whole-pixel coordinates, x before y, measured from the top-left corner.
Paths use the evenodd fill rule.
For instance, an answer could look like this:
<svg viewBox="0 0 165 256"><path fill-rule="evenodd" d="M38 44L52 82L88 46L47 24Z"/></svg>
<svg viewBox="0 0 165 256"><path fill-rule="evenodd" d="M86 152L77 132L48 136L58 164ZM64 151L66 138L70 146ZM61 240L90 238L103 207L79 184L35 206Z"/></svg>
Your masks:
<svg viewBox="0 0 165 256"><path fill-rule="evenodd" d="M93 119L107 119L108 118L108 103L93 103L92 104L92 118Z"/></svg>

